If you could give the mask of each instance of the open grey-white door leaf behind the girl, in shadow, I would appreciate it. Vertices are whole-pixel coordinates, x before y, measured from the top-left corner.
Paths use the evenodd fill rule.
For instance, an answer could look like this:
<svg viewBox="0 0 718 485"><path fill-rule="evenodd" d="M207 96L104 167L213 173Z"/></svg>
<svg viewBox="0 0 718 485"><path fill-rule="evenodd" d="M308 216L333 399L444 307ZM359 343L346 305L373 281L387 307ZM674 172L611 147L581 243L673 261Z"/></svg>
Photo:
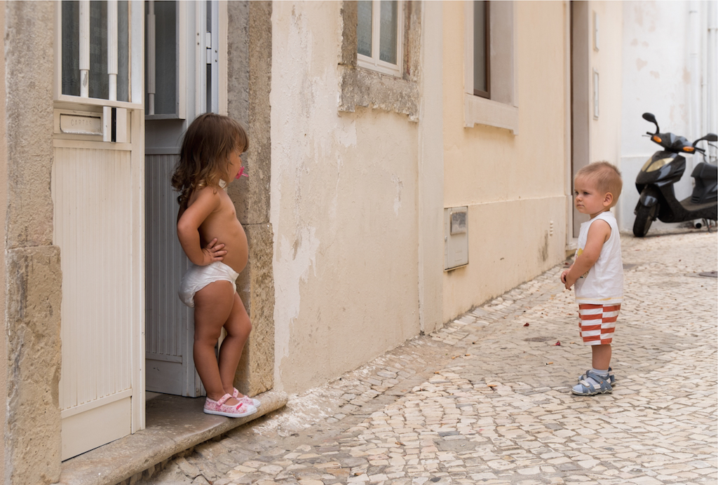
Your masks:
<svg viewBox="0 0 718 485"><path fill-rule="evenodd" d="M177 240L179 206L169 179L187 126L226 106L218 56L226 52L219 45L226 4L150 0L145 15L146 389L197 397L204 388L192 358L192 309L177 297L188 260Z"/></svg>

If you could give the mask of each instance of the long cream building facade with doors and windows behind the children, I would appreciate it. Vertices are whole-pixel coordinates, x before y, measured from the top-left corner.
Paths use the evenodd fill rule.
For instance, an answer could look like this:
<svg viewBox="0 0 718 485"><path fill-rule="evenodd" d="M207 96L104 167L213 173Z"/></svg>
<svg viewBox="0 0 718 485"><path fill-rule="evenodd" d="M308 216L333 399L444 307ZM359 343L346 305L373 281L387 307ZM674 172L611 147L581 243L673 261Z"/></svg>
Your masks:
<svg viewBox="0 0 718 485"><path fill-rule="evenodd" d="M169 189L198 114L251 140L229 189L250 395L321 385L560 263L574 172L619 163L620 4L1 6L9 484L143 429L147 390L202 395Z"/></svg>

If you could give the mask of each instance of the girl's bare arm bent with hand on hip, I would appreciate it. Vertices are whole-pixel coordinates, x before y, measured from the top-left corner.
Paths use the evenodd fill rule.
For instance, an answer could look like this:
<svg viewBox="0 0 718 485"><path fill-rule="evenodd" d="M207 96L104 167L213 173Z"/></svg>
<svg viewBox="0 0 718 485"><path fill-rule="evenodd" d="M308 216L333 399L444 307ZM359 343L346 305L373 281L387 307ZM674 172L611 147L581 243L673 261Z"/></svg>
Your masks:
<svg viewBox="0 0 718 485"><path fill-rule="evenodd" d="M195 265L205 266L215 261L223 260L227 251L221 250L224 244L216 244L217 239L211 240L205 248L200 242L200 225L220 207L220 196L210 187L205 187L195 202L187 207L177 221L177 238L187 258Z"/></svg>

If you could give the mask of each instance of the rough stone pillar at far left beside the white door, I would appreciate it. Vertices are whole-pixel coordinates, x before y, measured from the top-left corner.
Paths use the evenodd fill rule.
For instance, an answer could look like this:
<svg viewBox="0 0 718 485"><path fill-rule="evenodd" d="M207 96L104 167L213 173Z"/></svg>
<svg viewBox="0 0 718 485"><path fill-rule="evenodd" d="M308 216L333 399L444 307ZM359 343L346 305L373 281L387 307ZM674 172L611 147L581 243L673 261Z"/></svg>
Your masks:
<svg viewBox="0 0 718 485"><path fill-rule="evenodd" d="M5 483L60 478L60 250L52 245L55 4L4 4ZM30 62L32 61L32 62Z"/></svg>

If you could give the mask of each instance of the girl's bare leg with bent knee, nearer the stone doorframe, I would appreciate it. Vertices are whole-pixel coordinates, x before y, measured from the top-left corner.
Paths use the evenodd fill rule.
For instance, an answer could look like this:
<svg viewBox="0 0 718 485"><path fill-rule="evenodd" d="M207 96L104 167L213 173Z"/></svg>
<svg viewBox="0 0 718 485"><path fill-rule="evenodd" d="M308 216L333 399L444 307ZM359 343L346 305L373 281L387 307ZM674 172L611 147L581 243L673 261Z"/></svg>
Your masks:
<svg viewBox="0 0 718 485"><path fill-rule="evenodd" d="M239 359L242 357L244 344L246 344L249 332L252 330L249 315L237 293L234 293L233 301L232 311L224 325L227 335L220 346L220 378L222 379L224 392L227 394L232 394L234 391L234 376L237 373Z"/></svg>

